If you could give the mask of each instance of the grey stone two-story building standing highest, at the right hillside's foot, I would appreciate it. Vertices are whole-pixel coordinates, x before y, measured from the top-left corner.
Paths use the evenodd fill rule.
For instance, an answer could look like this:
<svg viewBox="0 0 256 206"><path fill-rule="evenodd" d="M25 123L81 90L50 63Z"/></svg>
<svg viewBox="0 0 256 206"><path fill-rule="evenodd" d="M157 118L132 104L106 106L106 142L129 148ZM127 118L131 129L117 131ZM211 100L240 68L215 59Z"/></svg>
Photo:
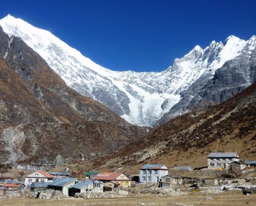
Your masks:
<svg viewBox="0 0 256 206"><path fill-rule="evenodd" d="M227 169L232 162L239 161L240 157L236 152L211 152L207 159L209 169Z"/></svg>

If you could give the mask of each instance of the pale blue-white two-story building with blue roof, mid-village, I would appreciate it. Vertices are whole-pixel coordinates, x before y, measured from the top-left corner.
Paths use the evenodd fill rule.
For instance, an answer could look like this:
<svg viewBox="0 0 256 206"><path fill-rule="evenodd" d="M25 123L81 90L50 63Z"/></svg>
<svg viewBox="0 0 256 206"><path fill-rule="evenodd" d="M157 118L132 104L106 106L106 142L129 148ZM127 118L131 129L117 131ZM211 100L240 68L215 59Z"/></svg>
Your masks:
<svg viewBox="0 0 256 206"><path fill-rule="evenodd" d="M140 182L159 182L162 177L168 175L168 167L163 164L145 164L140 168Z"/></svg>

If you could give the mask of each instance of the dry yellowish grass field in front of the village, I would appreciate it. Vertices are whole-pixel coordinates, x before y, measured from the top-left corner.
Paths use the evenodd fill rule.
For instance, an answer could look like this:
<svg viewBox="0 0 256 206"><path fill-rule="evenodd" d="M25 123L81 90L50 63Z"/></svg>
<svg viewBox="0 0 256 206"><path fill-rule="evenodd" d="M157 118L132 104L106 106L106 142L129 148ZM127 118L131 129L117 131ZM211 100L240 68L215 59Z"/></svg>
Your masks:
<svg viewBox="0 0 256 206"><path fill-rule="evenodd" d="M0 200L1 206L133 206L133 205L256 205L256 194L242 195L239 192L226 192L219 194L190 193L186 196L157 196L157 197L126 197L115 199L7 199Z"/></svg>

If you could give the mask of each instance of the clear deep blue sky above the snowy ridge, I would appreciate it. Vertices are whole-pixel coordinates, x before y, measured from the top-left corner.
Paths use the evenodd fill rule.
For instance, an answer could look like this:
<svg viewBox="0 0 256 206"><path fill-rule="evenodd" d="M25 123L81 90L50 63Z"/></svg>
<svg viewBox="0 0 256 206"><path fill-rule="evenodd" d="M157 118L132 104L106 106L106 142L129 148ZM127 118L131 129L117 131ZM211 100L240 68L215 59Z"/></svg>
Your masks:
<svg viewBox="0 0 256 206"><path fill-rule="evenodd" d="M256 1L2 1L8 13L47 29L116 71L163 71L195 45L256 35Z"/></svg>

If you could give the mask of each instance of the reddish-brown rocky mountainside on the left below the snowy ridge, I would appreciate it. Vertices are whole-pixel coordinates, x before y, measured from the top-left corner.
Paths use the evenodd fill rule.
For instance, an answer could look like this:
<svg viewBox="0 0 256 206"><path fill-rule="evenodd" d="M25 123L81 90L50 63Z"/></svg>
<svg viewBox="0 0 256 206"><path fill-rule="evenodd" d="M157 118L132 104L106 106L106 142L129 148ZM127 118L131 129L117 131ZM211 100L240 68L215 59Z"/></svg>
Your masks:
<svg viewBox="0 0 256 206"><path fill-rule="evenodd" d="M0 161L108 155L145 134L81 96L19 37L0 28ZM130 137L132 136L132 138Z"/></svg>

